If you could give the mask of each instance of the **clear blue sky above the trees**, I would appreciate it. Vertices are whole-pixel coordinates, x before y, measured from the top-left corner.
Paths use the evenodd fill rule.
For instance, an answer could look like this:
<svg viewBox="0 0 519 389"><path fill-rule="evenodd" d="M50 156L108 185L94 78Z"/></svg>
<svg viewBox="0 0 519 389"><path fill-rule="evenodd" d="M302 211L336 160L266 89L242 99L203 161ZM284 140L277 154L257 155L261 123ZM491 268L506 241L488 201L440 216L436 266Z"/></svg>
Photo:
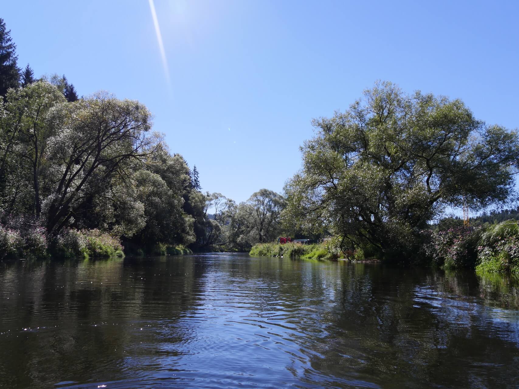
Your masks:
<svg viewBox="0 0 519 389"><path fill-rule="evenodd" d="M519 123L519 2L3 2L19 64L65 74L155 115L203 190L236 201L281 191L313 117L376 79L461 98L476 117Z"/></svg>

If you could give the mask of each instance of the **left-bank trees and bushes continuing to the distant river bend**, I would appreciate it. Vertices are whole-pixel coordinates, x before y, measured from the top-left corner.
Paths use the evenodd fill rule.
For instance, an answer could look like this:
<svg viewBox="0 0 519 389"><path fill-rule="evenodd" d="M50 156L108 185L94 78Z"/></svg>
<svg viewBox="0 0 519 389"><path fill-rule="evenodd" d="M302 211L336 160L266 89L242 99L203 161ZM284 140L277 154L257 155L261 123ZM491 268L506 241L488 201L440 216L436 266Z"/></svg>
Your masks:
<svg viewBox="0 0 519 389"><path fill-rule="evenodd" d="M17 65L0 19L0 259L248 250L274 239L283 198L202 193L196 166L147 108Z"/></svg>

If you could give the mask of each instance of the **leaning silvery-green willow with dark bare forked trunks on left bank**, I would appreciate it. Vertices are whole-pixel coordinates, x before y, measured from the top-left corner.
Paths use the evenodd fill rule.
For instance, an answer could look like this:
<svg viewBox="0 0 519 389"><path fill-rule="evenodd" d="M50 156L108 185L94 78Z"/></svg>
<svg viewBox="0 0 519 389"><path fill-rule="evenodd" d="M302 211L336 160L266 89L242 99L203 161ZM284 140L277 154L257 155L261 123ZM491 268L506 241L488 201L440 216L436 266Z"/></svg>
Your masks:
<svg viewBox="0 0 519 389"><path fill-rule="evenodd" d="M46 152L52 191L42 209L47 231L57 234L106 183L130 177L132 163L143 163L159 143L149 135L143 104L104 92L56 105L48 117L55 128Z"/></svg>

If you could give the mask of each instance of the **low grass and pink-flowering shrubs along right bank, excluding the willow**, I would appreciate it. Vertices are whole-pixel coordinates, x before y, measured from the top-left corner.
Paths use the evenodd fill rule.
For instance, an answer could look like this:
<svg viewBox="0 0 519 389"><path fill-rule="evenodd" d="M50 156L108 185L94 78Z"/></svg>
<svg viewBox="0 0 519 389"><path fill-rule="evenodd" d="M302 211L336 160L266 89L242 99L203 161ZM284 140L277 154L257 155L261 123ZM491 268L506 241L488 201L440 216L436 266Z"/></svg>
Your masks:
<svg viewBox="0 0 519 389"><path fill-rule="evenodd" d="M480 273L519 275L519 227L516 220L479 227L458 227L422 233L422 246L407 265L436 267L444 270L469 269ZM358 248L344 252L337 239L323 243L258 243L253 256L307 259L374 260L372 250ZM380 257L382 258L382 257ZM375 259L376 260L376 259Z"/></svg>

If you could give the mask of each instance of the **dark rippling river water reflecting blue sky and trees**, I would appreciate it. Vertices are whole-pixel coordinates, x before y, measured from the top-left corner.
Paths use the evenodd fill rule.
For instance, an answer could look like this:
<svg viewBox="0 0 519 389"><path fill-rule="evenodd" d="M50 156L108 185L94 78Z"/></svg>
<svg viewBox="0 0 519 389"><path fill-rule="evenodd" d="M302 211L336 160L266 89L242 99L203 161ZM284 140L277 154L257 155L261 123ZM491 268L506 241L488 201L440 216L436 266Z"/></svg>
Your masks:
<svg viewBox="0 0 519 389"><path fill-rule="evenodd" d="M246 254L0 262L0 387L519 387L519 282Z"/></svg>

